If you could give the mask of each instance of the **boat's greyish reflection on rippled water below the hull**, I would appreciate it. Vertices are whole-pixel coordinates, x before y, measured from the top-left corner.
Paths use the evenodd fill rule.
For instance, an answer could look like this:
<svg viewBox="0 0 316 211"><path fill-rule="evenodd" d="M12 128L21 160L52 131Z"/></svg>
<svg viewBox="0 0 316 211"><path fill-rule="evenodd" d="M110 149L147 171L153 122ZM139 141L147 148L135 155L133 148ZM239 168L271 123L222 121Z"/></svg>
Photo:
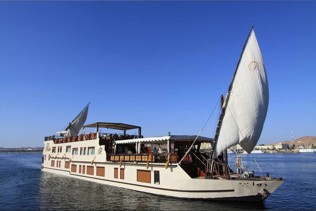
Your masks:
<svg viewBox="0 0 316 211"><path fill-rule="evenodd" d="M40 210L265 210L263 202L221 202L148 193L41 172Z"/></svg>

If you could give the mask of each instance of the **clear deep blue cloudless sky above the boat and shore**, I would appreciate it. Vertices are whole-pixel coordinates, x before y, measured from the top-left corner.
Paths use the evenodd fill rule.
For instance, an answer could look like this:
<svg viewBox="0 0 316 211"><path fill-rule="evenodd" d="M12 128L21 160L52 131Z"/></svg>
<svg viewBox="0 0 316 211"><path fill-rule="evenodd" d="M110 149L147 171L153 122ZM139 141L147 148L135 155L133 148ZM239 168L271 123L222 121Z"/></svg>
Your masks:
<svg viewBox="0 0 316 211"><path fill-rule="evenodd" d="M0 2L0 147L86 124L198 134L252 25L269 81L258 144L316 135L314 1ZM214 115L216 117L216 115ZM215 118L202 136L213 137ZM132 131L134 133L136 131Z"/></svg>

